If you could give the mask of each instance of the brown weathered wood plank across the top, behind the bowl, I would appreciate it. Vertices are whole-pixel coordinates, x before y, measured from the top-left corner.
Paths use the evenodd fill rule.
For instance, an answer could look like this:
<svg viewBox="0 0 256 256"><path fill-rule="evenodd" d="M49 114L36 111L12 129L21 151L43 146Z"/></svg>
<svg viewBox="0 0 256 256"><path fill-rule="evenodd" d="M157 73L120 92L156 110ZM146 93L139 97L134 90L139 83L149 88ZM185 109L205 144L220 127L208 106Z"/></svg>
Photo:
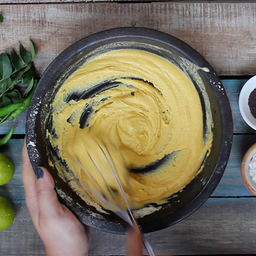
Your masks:
<svg viewBox="0 0 256 256"><path fill-rule="evenodd" d="M67 3L0 5L0 51L36 44L47 65L78 39L113 27L158 29L194 47L218 74L256 73L256 3Z"/></svg>

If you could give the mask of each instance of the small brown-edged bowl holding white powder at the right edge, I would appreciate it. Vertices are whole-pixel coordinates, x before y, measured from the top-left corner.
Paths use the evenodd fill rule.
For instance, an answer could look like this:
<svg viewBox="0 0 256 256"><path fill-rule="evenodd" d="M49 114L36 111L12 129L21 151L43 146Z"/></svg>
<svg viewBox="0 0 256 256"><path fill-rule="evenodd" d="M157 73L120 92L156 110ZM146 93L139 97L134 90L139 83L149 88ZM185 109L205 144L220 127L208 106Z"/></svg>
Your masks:
<svg viewBox="0 0 256 256"><path fill-rule="evenodd" d="M249 174L249 163L254 154L256 154L256 144L254 144L247 150L243 158L241 165L241 175L247 189L254 195L256 195L256 183L253 182L252 177Z"/></svg>

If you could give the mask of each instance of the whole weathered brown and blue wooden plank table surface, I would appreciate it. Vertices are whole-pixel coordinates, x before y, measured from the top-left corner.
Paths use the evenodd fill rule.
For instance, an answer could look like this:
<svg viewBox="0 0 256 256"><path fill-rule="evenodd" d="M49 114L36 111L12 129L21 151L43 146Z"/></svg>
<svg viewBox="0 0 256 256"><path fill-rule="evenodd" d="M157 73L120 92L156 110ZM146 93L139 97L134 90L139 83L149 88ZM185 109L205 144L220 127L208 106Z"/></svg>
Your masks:
<svg viewBox="0 0 256 256"><path fill-rule="evenodd" d="M187 1L190 2L190 1ZM180 223L146 237L157 255L256 254L256 197L244 186L240 163L256 131L243 121L238 95L250 75L256 74L256 3L200 1L0 0L5 20L0 26L0 52L18 42L36 45L38 76L67 46L112 27L155 28L182 39L201 53L220 75L228 93L234 120L234 138L226 171L203 206ZM21 182L21 148L26 113L7 125L15 135L3 149L15 163L13 179L0 186L0 195L16 209L13 225L0 232L0 255L44 255L44 246L29 218ZM90 255L124 255L125 236L91 229Z"/></svg>

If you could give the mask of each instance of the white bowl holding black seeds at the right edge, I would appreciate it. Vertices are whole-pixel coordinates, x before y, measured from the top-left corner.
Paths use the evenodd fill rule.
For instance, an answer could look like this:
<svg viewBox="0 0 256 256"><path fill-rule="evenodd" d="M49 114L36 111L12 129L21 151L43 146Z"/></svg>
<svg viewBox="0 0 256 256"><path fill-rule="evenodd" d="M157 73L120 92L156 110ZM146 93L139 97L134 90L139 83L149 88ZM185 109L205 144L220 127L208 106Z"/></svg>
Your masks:
<svg viewBox="0 0 256 256"><path fill-rule="evenodd" d="M250 93L256 88L256 75L250 78L243 86L239 95L239 110L245 122L256 130L256 118L251 114L248 99Z"/></svg>

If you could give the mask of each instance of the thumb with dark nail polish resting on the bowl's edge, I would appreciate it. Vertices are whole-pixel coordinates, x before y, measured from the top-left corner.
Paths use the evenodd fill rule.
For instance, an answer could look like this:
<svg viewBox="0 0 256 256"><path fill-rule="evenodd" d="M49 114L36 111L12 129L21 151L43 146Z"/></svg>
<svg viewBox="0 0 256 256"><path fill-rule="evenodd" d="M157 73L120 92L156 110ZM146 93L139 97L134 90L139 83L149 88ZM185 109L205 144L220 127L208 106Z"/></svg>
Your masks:
<svg viewBox="0 0 256 256"><path fill-rule="evenodd" d="M39 215L47 218L63 213L64 210L54 190L54 180L51 174L44 167L38 167L35 173Z"/></svg>

